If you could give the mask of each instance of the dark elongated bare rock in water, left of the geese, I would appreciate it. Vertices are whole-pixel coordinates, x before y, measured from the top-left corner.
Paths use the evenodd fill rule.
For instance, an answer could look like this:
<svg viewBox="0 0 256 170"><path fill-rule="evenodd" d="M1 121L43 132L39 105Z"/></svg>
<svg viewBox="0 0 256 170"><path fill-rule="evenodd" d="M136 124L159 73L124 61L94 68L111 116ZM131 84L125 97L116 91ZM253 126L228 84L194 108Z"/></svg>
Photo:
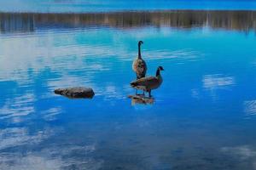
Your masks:
<svg viewBox="0 0 256 170"><path fill-rule="evenodd" d="M61 94L68 98L93 98L94 92L92 88L57 88L55 94Z"/></svg>

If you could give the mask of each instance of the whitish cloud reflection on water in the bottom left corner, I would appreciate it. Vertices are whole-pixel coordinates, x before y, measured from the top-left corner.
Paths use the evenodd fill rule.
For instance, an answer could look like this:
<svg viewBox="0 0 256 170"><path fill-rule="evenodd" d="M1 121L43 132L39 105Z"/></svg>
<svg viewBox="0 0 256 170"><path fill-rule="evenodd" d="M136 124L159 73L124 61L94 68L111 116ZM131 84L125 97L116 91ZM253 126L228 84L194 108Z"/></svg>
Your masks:
<svg viewBox="0 0 256 170"><path fill-rule="evenodd" d="M52 170L52 169L90 169L96 170L102 167L101 160L95 160L86 156L95 150L92 145L72 145L65 148L48 148L26 154L0 154L0 166L3 169L13 170ZM75 153L85 156L73 156Z"/></svg>

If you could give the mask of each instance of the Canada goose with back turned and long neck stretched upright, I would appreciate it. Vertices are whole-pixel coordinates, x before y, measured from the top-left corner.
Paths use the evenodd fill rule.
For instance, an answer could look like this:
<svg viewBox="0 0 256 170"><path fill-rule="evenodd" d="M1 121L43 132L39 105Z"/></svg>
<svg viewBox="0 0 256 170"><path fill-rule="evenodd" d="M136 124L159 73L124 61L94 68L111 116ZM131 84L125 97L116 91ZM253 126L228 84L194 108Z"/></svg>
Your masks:
<svg viewBox="0 0 256 170"><path fill-rule="evenodd" d="M143 41L139 41L137 43L137 46L138 46L137 59L134 59L132 63L132 70L136 72L137 79L145 77L147 72L147 65L146 65L146 62L143 60L142 54L141 54L142 43Z"/></svg>

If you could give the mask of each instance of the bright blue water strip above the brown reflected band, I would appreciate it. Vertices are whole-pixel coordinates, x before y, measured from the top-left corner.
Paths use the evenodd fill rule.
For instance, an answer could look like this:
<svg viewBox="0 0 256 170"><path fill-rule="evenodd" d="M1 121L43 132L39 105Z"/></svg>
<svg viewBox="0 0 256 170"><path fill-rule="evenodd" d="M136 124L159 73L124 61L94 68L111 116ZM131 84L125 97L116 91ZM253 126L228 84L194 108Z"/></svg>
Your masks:
<svg viewBox="0 0 256 170"><path fill-rule="evenodd" d="M255 0L8 0L1 12L107 12L123 10L211 9L255 10Z"/></svg>

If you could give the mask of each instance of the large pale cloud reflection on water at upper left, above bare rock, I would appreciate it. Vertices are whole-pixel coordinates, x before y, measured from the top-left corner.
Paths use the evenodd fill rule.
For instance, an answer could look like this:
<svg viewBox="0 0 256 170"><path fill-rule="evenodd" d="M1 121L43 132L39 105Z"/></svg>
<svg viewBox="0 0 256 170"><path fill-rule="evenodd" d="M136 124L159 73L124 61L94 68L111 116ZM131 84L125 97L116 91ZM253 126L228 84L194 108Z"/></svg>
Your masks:
<svg viewBox="0 0 256 170"><path fill-rule="evenodd" d="M75 42L76 34L66 33L66 39L58 44L63 33L39 35L19 35L0 39L0 80L13 80L19 84L32 81L29 70L36 76L45 68L52 72L66 74L67 71L106 71L101 58L115 54L109 51L108 45L88 46ZM70 44L68 43L70 40ZM95 59L88 63L86 59Z"/></svg>

